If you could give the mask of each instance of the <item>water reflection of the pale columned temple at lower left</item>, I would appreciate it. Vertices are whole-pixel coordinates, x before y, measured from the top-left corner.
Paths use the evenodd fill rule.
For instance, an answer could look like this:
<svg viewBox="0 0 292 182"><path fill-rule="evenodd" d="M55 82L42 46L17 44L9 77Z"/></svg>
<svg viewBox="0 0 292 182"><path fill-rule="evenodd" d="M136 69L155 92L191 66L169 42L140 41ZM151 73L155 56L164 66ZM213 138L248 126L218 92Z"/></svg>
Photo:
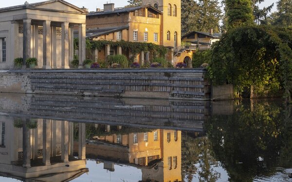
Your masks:
<svg viewBox="0 0 292 182"><path fill-rule="evenodd" d="M85 124L79 124L78 159L73 158L73 123L0 117L0 173L18 180L71 181L88 171Z"/></svg>

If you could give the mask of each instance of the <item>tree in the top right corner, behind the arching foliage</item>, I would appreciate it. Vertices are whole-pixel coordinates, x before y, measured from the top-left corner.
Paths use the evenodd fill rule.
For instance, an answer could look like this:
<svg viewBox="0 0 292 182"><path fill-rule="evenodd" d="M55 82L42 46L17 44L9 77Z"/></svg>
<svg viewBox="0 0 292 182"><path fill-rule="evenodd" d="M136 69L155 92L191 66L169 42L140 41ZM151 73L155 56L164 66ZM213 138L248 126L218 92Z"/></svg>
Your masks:
<svg viewBox="0 0 292 182"><path fill-rule="evenodd" d="M292 0L279 0L274 25L292 26Z"/></svg>

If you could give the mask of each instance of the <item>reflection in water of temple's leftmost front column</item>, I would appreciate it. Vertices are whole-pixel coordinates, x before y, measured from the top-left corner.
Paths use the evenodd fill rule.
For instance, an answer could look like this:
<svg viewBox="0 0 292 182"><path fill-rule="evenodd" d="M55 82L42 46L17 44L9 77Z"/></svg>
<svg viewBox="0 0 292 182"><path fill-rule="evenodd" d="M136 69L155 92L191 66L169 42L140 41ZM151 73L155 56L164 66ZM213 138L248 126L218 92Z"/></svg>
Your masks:
<svg viewBox="0 0 292 182"><path fill-rule="evenodd" d="M22 148L23 148L23 167L31 167L31 146L30 146L30 132L26 126L27 121L22 122Z"/></svg>

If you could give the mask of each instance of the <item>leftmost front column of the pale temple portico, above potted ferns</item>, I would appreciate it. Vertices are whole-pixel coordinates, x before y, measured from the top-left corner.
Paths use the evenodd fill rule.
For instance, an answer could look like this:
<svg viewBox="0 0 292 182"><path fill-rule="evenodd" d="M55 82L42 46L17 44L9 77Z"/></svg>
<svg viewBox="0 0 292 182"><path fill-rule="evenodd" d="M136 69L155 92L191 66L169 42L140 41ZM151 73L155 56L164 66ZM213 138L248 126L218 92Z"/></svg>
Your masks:
<svg viewBox="0 0 292 182"><path fill-rule="evenodd" d="M31 57L31 22L31 19L23 19L23 67L26 66L25 60Z"/></svg>

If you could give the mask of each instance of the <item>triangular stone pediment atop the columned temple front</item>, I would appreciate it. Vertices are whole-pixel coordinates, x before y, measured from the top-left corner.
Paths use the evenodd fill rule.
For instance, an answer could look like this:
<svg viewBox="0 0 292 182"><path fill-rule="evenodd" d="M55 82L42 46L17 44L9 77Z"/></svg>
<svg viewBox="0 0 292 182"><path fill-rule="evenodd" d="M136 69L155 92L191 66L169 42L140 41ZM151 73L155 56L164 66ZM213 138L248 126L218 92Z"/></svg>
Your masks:
<svg viewBox="0 0 292 182"><path fill-rule="evenodd" d="M74 12L74 13L85 13L82 9L67 3L65 1L47 1L47 3L36 4L33 6L35 9L48 9L48 10L56 10L56 11L65 11L65 12Z"/></svg>

